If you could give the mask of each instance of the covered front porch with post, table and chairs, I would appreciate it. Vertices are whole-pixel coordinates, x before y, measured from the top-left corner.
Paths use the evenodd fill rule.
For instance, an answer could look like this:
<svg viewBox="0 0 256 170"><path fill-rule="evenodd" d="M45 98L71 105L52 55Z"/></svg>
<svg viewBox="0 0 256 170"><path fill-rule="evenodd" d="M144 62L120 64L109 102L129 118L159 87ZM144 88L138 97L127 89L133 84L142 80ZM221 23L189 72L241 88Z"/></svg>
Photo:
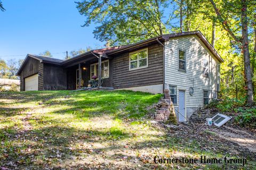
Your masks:
<svg viewBox="0 0 256 170"><path fill-rule="evenodd" d="M70 58L65 63L67 90L114 89L110 57L93 52ZM95 80L93 77L96 77ZM90 84L90 85L89 85Z"/></svg>

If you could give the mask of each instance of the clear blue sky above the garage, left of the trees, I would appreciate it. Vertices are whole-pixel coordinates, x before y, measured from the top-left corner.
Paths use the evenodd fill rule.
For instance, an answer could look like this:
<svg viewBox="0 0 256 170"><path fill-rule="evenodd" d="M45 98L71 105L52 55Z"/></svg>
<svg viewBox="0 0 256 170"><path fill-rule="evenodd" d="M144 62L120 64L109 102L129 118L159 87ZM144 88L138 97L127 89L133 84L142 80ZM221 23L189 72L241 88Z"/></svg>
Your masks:
<svg viewBox="0 0 256 170"><path fill-rule="evenodd" d="M45 50L63 59L66 51L103 47L92 33L94 24L81 27L85 18L74 1L2 0L6 11L0 11L0 59L19 60Z"/></svg>

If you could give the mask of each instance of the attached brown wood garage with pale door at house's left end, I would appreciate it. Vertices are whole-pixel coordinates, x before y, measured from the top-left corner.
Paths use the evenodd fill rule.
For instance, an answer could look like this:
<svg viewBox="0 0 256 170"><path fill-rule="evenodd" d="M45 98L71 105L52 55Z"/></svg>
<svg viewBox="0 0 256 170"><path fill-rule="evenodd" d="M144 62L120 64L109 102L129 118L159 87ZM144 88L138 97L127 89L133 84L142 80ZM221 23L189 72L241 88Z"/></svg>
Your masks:
<svg viewBox="0 0 256 170"><path fill-rule="evenodd" d="M20 66L20 91L67 90L66 70L62 60L28 54Z"/></svg>

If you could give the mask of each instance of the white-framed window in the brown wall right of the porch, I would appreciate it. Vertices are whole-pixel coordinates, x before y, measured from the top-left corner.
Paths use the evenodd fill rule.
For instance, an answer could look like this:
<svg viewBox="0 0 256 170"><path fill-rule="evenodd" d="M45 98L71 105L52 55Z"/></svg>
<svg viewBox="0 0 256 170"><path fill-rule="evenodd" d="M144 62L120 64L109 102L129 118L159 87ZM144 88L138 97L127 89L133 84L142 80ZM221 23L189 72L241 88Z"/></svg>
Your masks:
<svg viewBox="0 0 256 170"><path fill-rule="evenodd" d="M129 70L141 69L148 66L148 49L142 49L134 53L130 53Z"/></svg>

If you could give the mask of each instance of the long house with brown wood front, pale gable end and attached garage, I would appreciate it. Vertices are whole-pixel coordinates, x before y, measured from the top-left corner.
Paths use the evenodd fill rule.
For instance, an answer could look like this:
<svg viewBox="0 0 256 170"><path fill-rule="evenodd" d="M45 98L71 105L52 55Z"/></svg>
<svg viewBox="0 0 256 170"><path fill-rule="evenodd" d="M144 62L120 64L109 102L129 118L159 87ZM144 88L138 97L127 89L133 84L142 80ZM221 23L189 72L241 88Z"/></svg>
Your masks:
<svg viewBox="0 0 256 170"><path fill-rule="evenodd" d="M90 50L64 61L28 54L17 75L21 91L80 89L93 75L103 80L99 88L154 94L169 89L174 107L189 117L217 99L222 62L202 33L191 31ZM186 120L180 116L179 121Z"/></svg>

